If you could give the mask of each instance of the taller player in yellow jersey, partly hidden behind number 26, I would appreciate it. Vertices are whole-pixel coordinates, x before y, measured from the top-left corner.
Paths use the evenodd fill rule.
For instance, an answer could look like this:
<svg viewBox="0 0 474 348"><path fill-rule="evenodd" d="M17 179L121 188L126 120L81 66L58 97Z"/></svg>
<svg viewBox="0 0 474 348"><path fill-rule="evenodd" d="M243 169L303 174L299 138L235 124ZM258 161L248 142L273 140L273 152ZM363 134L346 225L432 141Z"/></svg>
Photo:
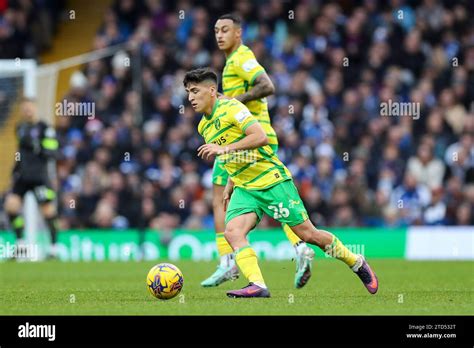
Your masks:
<svg viewBox="0 0 474 348"><path fill-rule="evenodd" d="M247 106L264 129L269 139L271 151L276 153L278 139L270 124L265 99L265 97L274 93L275 88L265 69L255 59L252 51L242 44L240 18L233 14L223 15L216 22L214 31L217 45L226 56L226 65L222 74L224 95L233 97ZM217 286L226 280L238 277L238 268L235 265L232 248L224 238L222 194L227 179L228 174L223 163L215 161L212 173L213 212L220 263L217 270L201 283L202 286ZM311 262L314 258L314 251L298 238L289 226L286 224L282 226L296 250L295 287L301 288L306 285L311 277Z"/></svg>

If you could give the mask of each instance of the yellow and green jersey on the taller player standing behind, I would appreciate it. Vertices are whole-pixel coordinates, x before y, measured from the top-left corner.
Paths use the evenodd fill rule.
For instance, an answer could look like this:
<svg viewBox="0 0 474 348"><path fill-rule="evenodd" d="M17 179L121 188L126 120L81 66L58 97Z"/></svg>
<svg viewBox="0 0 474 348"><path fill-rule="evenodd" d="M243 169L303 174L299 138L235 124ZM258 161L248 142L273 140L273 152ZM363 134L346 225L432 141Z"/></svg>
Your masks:
<svg viewBox="0 0 474 348"><path fill-rule="evenodd" d="M222 73L224 95L232 98L244 94L252 89L255 79L264 72L265 69L257 62L250 48L240 45L226 59ZM269 144L278 145L275 130L270 123L266 98L249 101L245 106L262 125L267 133Z"/></svg>

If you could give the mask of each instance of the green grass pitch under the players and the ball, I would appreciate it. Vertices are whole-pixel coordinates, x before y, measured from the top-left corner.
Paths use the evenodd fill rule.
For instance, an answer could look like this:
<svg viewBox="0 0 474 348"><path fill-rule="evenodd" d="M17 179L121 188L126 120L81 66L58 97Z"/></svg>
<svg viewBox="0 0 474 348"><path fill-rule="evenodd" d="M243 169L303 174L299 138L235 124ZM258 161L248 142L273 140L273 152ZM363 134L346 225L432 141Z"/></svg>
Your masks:
<svg viewBox="0 0 474 348"><path fill-rule="evenodd" d="M441 315L474 314L473 262L370 260L380 281L370 295L357 276L335 260L317 260L313 277L293 288L294 263L262 261L270 299L230 299L199 283L215 262L177 261L181 297L168 301L147 291L148 270L158 262L1 263L0 315Z"/></svg>

